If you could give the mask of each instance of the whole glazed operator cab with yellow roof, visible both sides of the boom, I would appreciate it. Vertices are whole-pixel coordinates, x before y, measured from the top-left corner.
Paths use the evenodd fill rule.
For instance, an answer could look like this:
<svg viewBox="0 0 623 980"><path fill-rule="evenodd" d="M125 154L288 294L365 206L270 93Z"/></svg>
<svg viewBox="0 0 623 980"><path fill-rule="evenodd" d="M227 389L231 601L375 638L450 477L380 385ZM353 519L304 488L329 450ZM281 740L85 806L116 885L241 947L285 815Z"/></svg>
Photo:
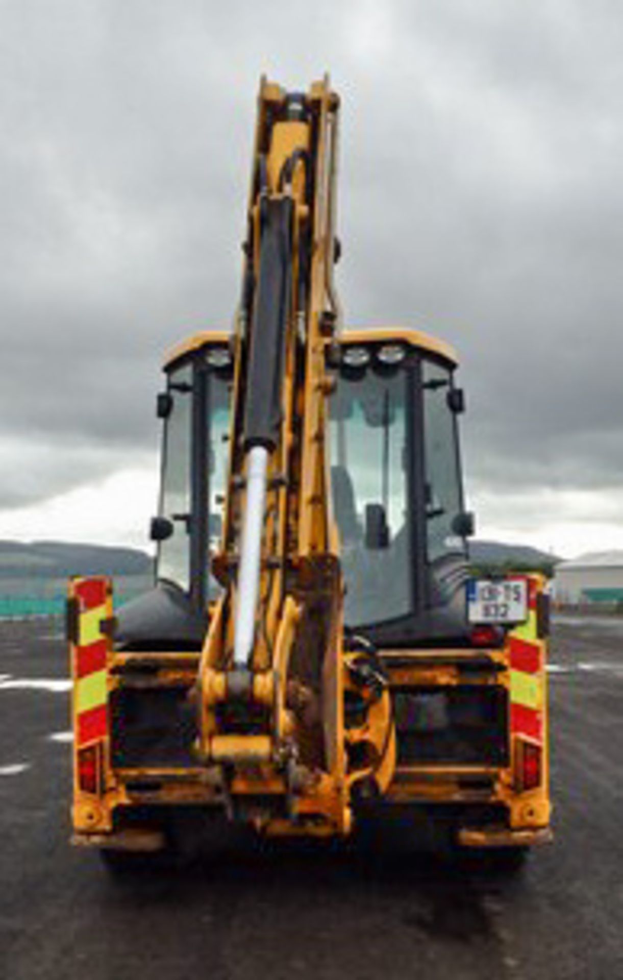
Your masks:
<svg viewBox="0 0 623 980"><path fill-rule="evenodd" d="M415 331L348 331L327 348L327 364L347 630L381 647L468 642L454 353ZM199 649L220 588L211 564L229 456L228 336L196 335L165 370L157 584L120 611L118 635L126 647Z"/></svg>

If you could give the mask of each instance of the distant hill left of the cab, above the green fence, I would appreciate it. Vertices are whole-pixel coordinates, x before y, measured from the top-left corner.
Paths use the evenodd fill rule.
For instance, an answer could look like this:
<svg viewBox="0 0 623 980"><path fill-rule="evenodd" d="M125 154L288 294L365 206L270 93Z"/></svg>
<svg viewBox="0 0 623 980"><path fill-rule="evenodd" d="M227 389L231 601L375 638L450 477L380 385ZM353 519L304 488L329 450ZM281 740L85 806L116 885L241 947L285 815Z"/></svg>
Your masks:
<svg viewBox="0 0 623 980"><path fill-rule="evenodd" d="M136 548L0 541L0 578L67 578L70 575L149 575L153 559Z"/></svg>

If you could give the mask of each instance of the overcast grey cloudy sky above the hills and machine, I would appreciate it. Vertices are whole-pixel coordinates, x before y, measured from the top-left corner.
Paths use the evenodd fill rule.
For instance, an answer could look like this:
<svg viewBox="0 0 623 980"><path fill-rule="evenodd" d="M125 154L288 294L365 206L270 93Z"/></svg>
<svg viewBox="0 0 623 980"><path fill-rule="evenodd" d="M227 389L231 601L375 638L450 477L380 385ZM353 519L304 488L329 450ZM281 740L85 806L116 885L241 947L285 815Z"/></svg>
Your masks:
<svg viewBox="0 0 623 980"><path fill-rule="evenodd" d="M347 319L457 348L481 534L623 546L622 53L617 0L0 0L0 536L141 543L260 73L329 71Z"/></svg>

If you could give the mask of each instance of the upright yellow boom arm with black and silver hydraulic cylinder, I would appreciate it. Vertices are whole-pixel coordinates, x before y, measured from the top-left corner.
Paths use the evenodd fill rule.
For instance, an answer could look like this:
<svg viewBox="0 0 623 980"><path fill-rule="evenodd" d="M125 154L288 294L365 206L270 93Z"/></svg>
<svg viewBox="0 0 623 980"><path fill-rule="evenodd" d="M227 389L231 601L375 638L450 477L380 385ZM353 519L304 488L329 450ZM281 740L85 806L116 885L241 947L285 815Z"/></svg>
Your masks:
<svg viewBox="0 0 623 980"><path fill-rule="evenodd" d="M224 591L199 677L203 759L261 758L286 793L296 767L309 782L343 769L343 590L325 459L338 105L326 78L307 95L262 81L215 563Z"/></svg>

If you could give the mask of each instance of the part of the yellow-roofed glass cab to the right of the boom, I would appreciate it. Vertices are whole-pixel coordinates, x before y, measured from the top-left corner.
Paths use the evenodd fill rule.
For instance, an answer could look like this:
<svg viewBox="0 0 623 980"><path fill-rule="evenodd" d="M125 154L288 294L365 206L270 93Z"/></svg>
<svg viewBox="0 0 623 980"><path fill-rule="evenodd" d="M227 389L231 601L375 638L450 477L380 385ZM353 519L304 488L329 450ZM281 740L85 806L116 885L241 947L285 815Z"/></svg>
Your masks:
<svg viewBox="0 0 623 980"><path fill-rule="evenodd" d="M466 641L454 352L416 331L349 331L328 360L345 625L381 647Z"/></svg>

